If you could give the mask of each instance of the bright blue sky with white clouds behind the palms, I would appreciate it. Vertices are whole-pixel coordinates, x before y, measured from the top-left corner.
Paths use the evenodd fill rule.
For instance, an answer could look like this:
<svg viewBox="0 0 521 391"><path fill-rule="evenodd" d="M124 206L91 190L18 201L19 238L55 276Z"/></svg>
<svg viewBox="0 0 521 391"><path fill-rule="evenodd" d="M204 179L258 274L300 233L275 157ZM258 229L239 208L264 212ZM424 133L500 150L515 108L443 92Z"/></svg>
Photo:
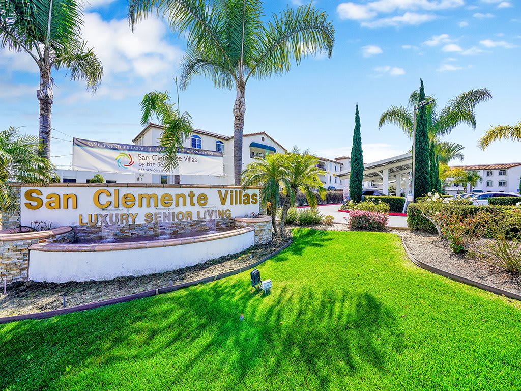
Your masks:
<svg viewBox="0 0 521 391"><path fill-rule="evenodd" d="M302 3L266 2L272 13ZM516 4L517 3L517 4ZM465 164L521 161L521 144L510 141L478 150L490 125L521 120L521 12L514 0L320 0L336 29L331 58L307 58L287 75L250 80L245 132L266 131L282 145L311 148L325 157L349 155L355 104L361 113L364 160L405 152L411 142L393 126L378 130L380 114L407 102L423 78L426 93L443 106L456 94L488 88L493 99L477 108L478 129L455 129L445 138L462 143ZM186 43L163 21L149 19L132 33L127 3L91 0L83 35L105 70L95 95L65 71L55 72L53 162L71 163L68 136L128 142L139 131L144 93L175 91L173 77ZM0 127L38 133L38 68L24 53L0 50ZM181 108L197 128L231 135L234 92L216 90L204 78L181 92ZM455 162L453 162L455 163Z"/></svg>

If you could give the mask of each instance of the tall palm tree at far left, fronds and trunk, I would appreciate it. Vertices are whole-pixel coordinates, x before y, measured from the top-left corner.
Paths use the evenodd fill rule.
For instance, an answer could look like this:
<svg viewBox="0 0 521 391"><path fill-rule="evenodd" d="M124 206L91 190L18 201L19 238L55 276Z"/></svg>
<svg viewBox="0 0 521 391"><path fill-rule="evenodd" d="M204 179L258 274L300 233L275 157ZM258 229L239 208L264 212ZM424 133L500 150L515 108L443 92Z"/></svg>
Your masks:
<svg viewBox="0 0 521 391"><path fill-rule="evenodd" d="M85 80L93 92L103 67L80 37L81 7L76 0L3 0L0 2L0 47L27 52L40 69L40 140L51 158L51 69L68 69L72 80Z"/></svg>

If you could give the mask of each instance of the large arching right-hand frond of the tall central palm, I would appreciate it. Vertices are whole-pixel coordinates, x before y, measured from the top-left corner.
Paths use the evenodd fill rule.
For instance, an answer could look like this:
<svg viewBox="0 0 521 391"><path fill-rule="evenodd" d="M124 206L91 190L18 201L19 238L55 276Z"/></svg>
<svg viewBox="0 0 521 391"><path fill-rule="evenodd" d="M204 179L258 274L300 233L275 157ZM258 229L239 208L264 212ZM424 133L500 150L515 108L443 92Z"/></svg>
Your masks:
<svg viewBox="0 0 521 391"><path fill-rule="evenodd" d="M309 5L288 8L274 15L258 37L255 58L250 76L263 79L272 74L288 72L294 60L299 65L302 58L317 52L333 53L334 27L324 11Z"/></svg>

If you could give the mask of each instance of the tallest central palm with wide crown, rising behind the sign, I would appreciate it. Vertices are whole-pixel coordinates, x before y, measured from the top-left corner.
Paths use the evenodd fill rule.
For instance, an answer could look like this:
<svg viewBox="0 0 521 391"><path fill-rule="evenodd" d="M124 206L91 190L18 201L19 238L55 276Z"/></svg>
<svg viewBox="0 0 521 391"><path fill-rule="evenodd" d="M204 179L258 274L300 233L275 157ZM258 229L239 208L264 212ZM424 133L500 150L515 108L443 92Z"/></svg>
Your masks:
<svg viewBox="0 0 521 391"><path fill-rule="evenodd" d="M288 72L292 59L299 65L317 52L330 57L334 28L328 16L310 4L288 8L264 23L261 0L130 0L132 29L151 14L187 37L181 88L204 75L217 88L235 89L233 163L239 185L247 82Z"/></svg>

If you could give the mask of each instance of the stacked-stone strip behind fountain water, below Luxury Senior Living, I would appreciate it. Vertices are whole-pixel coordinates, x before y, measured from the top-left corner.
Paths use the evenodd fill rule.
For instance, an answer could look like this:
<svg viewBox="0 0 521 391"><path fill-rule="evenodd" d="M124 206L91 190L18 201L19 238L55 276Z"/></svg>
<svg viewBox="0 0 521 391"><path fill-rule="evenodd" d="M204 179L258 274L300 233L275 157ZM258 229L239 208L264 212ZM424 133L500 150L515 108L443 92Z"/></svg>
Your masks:
<svg viewBox="0 0 521 391"><path fill-rule="evenodd" d="M214 220L194 220L172 223L136 223L125 225L76 225L76 237L79 241L96 241L108 238L130 236L158 236L177 235L191 232L214 231L233 228L232 218L219 218Z"/></svg>

